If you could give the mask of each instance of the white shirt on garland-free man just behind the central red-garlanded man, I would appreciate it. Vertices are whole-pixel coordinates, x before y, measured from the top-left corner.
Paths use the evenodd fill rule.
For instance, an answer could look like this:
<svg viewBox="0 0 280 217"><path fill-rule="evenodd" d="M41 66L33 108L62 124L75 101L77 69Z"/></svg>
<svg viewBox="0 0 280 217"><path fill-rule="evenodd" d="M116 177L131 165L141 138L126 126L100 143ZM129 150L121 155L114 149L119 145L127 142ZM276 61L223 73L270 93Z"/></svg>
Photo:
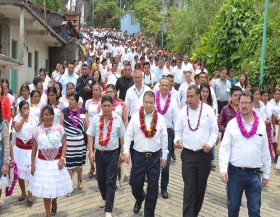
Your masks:
<svg viewBox="0 0 280 217"><path fill-rule="evenodd" d="M125 95L125 104L127 106L129 117L139 111L140 106L143 105L144 94L149 90L151 89L146 85L142 86L140 91L137 90L135 84L128 88Z"/></svg>

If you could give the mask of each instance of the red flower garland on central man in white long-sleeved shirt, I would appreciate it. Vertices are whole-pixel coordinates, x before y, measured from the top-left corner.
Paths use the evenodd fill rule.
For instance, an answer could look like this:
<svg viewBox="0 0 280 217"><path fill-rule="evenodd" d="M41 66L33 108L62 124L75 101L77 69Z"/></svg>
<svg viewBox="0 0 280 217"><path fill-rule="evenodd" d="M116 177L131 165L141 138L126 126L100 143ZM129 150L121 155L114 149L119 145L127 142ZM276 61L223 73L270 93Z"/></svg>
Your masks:
<svg viewBox="0 0 280 217"><path fill-rule="evenodd" d="M158 113L156 110L154 110L150 130L147 130L146 124L145 124L145 117L144 117L144 107L141 106L139 110L139 118L140 118L140 129L145 134L146 138L153 137L156 132L156 126L157 126L157 120L158 120Z"/></svg>

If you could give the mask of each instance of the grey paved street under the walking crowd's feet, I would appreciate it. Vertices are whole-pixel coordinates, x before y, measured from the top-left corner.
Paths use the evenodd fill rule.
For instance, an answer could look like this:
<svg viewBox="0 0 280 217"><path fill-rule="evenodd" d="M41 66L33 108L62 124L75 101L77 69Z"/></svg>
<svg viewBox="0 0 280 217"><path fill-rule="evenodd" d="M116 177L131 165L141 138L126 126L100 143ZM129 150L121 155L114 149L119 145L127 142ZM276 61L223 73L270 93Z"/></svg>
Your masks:
<svg viewBox="0 0 280 217"><path fill-rule="evenodd" d="M177 150L177 161L172 162L170 172L170 184L168 188L169 199L159 199L156 207L156 216L159 217L180 217L182 216L182 196L183 196L183 180L181 176L181 160L179 158L180 152ZM218 159L218 148L216 149L216 165ZM129 168L129 165L127 166ZM276 171L275 164L272 164L271 181L268 187L262 193L262 208L261 215L264 217L279 217L280 216L280 171ZM97 181L87 178L89 165L87 164L83 172L84 189L79 191L76 189L77 181L74 177L73 196L70 198L61 197L58 199L58 212L56 216L90 216L99 217L105 216L103 209L99 208L100 194L98 191ZM16 186L13 196L4 198L2 196L1 206L3 217L43 217L45 210L42 198L34 198L34 205L32 208L27 207L26 201L18 202L17 197L20 195L19 186ZM123 184L123 187L116 191L115 204L113 209L113 216L119 217L137 217L143 216L143 207L138 214L133 213L134 198L131 194L128 182ZM247 204L245 202L245 195L243 196L240 216L245 217L247 214ZM199 216L204 217L222 217L227 216L225 185L220 182L218 169L212 171L208 179L208 187L204 199L204 204Z"/></svg>

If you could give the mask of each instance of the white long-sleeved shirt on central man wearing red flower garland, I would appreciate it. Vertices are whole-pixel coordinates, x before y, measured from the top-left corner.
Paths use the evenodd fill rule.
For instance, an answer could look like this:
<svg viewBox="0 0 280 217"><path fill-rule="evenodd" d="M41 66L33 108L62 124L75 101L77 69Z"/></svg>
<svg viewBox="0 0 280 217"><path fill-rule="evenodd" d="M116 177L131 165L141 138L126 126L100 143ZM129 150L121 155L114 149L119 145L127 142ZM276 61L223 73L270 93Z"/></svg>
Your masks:
<svg viewBox="0 0 280 217"><path fill-rule="evenodd" d="M147 129L150 129L153 113L146 114L145 125ZM139 110L135 113L127 127L127 132L124 137L124 153L129 153L130 143L134 141L133 149L138 152L157 152L161 149L162 159L167 160L168 155L168 140L167 130L163 116L158 113L158 120L156 126L157 132L151 138L146 138L145 134L140 129Z"/></svg>

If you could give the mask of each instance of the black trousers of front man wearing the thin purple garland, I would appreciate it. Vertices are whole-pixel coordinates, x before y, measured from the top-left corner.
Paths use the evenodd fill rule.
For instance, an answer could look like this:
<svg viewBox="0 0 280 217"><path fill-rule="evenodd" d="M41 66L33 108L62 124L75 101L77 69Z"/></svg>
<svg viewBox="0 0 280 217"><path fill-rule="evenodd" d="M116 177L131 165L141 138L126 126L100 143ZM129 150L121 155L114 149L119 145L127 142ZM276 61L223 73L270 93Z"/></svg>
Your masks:
<svg viewBox="0 0 280 217"><path fill-rule="evenodd" d="M181 159L184 180L183 217L197 217L211 170L211 151L193 152L184 148Z"/></svg>

